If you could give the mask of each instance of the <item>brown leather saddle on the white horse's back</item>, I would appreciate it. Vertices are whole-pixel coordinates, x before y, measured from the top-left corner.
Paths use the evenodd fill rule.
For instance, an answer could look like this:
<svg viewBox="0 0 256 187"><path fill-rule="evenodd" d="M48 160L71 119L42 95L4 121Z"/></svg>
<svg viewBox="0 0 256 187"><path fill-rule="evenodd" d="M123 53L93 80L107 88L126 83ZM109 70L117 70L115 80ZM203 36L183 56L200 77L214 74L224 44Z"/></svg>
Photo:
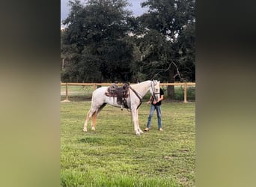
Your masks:
<svg viewBox="0 0 256 187"><path fill-rule="evenodd" d="M117 97L118 105L124 105L125 108L129 108L127 105L127 97L129 96L129 84L125 83L123 86L118 87L115 83L106 91L106 96Z"/></svg>

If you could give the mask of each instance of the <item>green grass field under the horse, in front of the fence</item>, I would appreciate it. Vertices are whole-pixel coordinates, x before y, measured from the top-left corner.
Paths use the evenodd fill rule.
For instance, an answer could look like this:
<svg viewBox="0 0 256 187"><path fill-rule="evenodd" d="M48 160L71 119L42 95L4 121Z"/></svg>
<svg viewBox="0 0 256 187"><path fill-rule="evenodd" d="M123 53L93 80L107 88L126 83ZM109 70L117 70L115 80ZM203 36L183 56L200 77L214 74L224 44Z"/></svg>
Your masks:
<svg viewBox="0 0 256 187"><path fill-rule="evenodd" d="M162 102L150 132L136 136L131 114L106 105L96 131L82 132L91 101L61 102L61 186L195 186L195 102ZM139 108L147 123L149 106Z"/></svg>

